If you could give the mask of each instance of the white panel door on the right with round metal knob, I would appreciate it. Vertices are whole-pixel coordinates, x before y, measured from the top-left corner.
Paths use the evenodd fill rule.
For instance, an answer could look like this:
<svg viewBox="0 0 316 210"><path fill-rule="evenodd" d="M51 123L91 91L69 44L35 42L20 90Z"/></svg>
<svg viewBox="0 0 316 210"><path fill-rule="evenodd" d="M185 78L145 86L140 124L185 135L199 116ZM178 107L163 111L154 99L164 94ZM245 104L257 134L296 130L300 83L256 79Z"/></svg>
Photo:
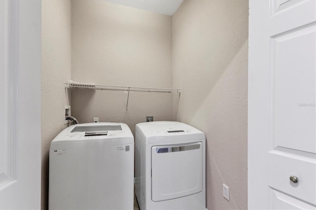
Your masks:
<svg viewBox="0 0 316 210"><path fill-rule="evenodd" d="M249 209L316 209L315 103L316 0L250 0Z"/></svg>

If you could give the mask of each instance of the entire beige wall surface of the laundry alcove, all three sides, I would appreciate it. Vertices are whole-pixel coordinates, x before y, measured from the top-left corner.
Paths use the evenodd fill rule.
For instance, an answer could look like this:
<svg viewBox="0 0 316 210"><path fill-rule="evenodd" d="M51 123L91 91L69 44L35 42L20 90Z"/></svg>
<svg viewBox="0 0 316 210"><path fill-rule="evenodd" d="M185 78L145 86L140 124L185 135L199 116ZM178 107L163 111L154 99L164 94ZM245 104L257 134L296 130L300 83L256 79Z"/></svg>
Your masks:
<svg viewBox="0 0 316 210"><path fill-rule="evenodd" d="M102 0L43 0L42 209L49 145L66 127L63 83L70 78L182 88L178 112L177 95L131 92L125 110L126 92L72 89L72 115L80 123L124 122L133 133L146 116L178 115L206 135L207 208L247 209L247 38L247 0L184 0L172 18Z"/></svg>

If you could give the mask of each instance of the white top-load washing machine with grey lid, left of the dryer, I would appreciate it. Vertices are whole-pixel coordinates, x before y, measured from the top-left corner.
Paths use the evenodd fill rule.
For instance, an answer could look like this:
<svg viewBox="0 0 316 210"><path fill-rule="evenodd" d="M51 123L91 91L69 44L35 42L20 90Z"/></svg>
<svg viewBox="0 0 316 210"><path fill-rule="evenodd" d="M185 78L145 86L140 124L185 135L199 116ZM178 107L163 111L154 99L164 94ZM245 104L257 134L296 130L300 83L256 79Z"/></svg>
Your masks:
<svg viewBox="0 0 316 210"><path fill-rule="evenodd" d="M50 210L127 210L134 205L134 138L123 123L85 123L50 144Z"/></svg>

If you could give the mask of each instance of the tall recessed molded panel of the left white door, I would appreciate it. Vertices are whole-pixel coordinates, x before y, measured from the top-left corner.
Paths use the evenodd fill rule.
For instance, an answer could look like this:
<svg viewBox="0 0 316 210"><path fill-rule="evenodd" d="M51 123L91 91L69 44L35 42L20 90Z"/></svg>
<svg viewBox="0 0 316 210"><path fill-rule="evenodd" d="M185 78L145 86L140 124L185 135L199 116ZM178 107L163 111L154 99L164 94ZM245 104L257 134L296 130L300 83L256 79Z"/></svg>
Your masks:
<svg viewBox="0 0 316 210"><path fill-rule="evenodd" d="M1 0L1 139L0 190L16 182L18 145L19 1Z"/></svg>

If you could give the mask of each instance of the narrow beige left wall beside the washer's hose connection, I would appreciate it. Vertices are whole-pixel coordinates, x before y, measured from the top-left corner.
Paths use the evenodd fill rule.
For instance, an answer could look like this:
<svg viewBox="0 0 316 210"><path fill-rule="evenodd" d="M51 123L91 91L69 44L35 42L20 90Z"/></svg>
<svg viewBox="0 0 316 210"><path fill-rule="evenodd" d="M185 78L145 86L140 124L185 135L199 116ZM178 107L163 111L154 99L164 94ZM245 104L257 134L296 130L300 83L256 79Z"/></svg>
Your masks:
<svg viewBox="0 0 316 210"><path fill-rule="evenodd" d="M66 128L64 105L69 104L64 82L71 78L71 1L42 0L41 5L41 209L47 209L49 146Z"/></svg>

